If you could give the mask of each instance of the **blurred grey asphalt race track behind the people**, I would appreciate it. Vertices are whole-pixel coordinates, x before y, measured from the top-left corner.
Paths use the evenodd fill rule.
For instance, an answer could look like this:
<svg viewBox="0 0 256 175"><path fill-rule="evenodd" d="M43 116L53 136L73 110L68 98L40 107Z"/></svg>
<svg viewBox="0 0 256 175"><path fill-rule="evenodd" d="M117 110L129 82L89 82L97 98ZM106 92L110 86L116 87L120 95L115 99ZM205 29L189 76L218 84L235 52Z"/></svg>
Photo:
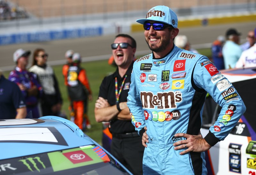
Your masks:
<svg viewBox="0 0 256 175"><path fill-rule="evenodd" d="M241 32L241 43L245 42L245 38L249 30L256 27L255 22L215 25L215 26L201 26L191 28L180 28L179 34L187 35L189 42L193 48L209 47L211 43L219 35L225 35L228 28L236 28ZM143 32L129 33L137 42L136 55L146 55L150 53L148 45L145 42ZM115 35L104 35L98 37L87 37L68 40L56 40L49 42L26 43L0 46L2 71L9 71L14 68L12 55L15 50L23 48L24 50L31 50L36 48L44 48L49 54L48 64L58 65L64 64L64 54L68 49L78 52L83 57L83 61L92 60L106 60L111 55L110 44L114 41ZM29 58L32 62L32 56Z"/></svg>

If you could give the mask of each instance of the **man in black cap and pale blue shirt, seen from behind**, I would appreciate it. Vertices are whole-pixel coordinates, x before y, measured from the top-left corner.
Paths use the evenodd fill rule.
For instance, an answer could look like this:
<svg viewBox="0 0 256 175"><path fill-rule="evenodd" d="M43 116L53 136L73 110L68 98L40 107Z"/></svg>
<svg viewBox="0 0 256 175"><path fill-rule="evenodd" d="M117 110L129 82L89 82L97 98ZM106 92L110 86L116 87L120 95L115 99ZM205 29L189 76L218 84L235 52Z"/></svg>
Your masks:
<svg viewBox="0 0 256 175"><path fill-rule="evenodd" d="M242 49L238 45L240 42L240 35L236 29L228 29L226 32L226 43L222 48L225 69L235 68L236 62L242 54Z"/></svg>

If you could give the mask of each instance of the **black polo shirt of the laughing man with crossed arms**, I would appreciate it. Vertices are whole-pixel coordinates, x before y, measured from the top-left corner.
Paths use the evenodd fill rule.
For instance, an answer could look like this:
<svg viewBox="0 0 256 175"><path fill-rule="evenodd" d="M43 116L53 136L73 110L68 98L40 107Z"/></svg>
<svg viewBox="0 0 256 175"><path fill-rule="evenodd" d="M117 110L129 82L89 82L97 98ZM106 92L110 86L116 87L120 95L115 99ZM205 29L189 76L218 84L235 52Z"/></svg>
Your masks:
<svg viewBox="0 0 256 175"><path fill-rule="evenodd" d="M119 102L127 101L127 96L128 96L128 92L129 92L130 84L131 84L132 67L133 67L133 62L125 73L125 75L127 75L127 77L124 81L123 89L119 96ZM125 75L124 75L124 77L125 77ZM118 68L116 69L116 71L113 74L105 77L103 79L102 83L100 84L99 97L107 99L110 106L116 105L115 77L117 77L117 87L118 87L118 92L119 92L120 87L123 83L124 77L120 77L120 75L118 73ZM109 131L111 133L115 133L115 134L136 132L134 126L132 125L131 120L114 119L114 120L110 121L110 126L111 127L109 128Z"/></svg>

